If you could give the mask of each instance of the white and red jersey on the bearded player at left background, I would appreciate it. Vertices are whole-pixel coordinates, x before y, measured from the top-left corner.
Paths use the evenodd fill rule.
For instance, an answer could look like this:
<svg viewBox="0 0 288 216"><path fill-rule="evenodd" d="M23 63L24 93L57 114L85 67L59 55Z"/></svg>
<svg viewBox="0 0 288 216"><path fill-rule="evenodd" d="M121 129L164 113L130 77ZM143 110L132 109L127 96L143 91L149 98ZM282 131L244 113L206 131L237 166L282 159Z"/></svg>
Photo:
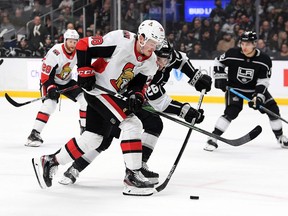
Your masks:
<svg viewBox="0 0 288 216"><path fill-rule="evenodd" d="M72 79L72 69L77 64L76 50L69 54L64 43L54 45L42 60L41 84L65 85Z"/></svg>

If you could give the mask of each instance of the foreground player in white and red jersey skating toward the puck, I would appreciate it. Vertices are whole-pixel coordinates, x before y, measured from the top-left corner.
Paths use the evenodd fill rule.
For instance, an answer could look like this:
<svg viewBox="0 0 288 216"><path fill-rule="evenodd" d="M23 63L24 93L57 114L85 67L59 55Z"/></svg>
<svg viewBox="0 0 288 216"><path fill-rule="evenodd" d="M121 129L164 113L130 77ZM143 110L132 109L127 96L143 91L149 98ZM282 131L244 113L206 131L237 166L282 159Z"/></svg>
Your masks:
<svg viewBox="0 0 288 216"><path fill-rule="evenodd" d="M153 184L140 171L142 124L134 113L141 109L147 85L157 70L154 51L162 44L164 36L160 23L145 20L137 35L116 30L103 37L91 36L78 42L78 83L85 89L88 102L86 130L80 138L72 138L55 154L32 159L42 187L52 185L59 164L67 164L98 148L103 137L110 133L107 127L103 127L109 122L122 131L121 149L126 166L123 194L153 194ZM91 65L92 58L97 58L96 70ZM95 82L114 92L126 90L127 102L94 88Z"/></svg>

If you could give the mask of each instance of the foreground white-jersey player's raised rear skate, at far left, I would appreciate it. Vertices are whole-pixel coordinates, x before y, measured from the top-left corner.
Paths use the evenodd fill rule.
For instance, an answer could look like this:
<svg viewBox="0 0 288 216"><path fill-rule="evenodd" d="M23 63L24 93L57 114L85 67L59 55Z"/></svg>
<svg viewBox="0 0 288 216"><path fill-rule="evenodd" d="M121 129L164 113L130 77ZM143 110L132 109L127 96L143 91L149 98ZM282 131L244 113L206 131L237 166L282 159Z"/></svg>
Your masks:
<svg viewBox="0 0 288 216"><path fill-rule="evenodd" d="M43 189L51 187L53 176L58 170L58 162L55 157L43 155L40 158L32 158L32 165L40 187Z"/></svg>

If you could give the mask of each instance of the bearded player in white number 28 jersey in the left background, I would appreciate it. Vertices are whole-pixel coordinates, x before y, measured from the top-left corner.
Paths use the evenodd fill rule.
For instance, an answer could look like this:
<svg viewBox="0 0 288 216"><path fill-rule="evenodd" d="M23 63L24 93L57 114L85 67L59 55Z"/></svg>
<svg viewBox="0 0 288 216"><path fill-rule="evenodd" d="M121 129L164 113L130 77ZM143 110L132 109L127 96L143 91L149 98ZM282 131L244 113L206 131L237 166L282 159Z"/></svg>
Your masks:
<svg viewBox="0 0 288 216"><path fill-rule="evenodd" d="M38 147L43 143L40 136L43 128L55 111L60 97L58 90L77 85L72 79L72 69L77 63L76 44L79 34L76 30L68 29L64 33L64 42L54 45L42 60L41 94L47 95L40 111L37 113L33 129L25 146ZM77 87L63 93L66 97L80 104L80 132L85 130L87 102L83 90Z"/></svg>

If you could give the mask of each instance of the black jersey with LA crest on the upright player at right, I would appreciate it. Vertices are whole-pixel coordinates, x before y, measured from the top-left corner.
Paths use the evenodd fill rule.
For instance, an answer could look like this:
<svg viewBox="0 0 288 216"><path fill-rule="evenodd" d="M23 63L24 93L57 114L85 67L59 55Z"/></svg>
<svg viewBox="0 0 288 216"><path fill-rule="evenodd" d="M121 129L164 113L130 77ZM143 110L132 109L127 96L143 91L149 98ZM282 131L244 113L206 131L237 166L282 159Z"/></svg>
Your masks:
<svg viewBox="0 0 288 216"><path fill-rule="evenodd" d="M271 77L272 61L268 55L256 49L253 57L245 56L241 48L231 48L215 58L214 75L226 73L228 86L243 92L264 94Z"/></svg>

